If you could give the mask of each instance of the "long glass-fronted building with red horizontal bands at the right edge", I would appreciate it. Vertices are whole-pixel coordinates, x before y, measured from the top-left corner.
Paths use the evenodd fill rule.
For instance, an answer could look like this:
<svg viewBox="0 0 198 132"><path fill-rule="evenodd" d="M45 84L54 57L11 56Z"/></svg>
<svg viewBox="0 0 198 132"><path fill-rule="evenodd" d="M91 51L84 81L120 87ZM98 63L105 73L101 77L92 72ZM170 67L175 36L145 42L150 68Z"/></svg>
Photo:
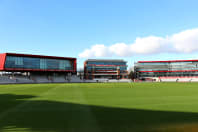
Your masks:
<svg viewBox="0 0 198 132"><path fill-rule="evenodd" d="M198 77L198 60L138 61L134 73L138 79Z"/></svg>

